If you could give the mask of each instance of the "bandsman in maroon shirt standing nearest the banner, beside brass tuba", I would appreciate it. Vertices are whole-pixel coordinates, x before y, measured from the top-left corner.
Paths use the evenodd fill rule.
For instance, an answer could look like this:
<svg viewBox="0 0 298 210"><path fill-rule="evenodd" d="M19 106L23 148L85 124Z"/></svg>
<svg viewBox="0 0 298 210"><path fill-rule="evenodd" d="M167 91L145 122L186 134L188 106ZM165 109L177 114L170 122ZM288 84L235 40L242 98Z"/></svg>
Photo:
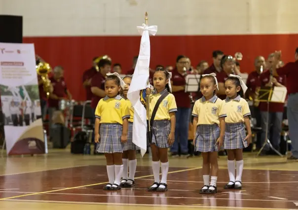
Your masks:
<svg viewBox="0 0 298 210"><path fill-rule="evenodd" d="M67 89L64 77L64 69L61 66L54 68L54 75L50 78L51 84L53 86L53 92L50 93L48 99L48 111L49 111L49 127L52 125L52 116L54 111L58 110L59 101L63 99L72 100L72 95ZM51 131L51 129L49 129ZM51 137L51 132L50 137Z"/></svg>

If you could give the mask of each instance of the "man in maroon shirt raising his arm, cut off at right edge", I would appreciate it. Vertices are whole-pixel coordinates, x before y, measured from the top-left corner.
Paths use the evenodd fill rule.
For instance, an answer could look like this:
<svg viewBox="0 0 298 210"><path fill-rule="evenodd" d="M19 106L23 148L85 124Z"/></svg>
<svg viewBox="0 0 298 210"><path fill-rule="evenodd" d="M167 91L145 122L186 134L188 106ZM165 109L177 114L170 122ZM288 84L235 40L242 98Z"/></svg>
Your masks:
<svg viewBox="0 0 298 210"><path fill-rule="evenodd" d="M287 115L289 122L289 134L292 141L292 156L288 159L298 160L298 47L295 51L295 62L287 63L285 66L276 69L281 57L281 52L275 53L272 66L273 75L286 76L288 90Z"/></svg>

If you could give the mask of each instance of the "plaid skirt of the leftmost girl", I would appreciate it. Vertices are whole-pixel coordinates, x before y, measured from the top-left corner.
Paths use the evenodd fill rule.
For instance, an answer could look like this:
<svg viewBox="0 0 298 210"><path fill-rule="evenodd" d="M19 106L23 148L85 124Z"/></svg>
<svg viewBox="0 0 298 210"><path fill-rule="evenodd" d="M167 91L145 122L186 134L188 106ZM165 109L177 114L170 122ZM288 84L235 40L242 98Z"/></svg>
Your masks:
<svg viewBox="0 0 298 210"><path fill-rule="evenodd" d="M99 128L100 141L96 151L99 153L123 152L121 143L122 125L118 123L103 123Z"/></svg>

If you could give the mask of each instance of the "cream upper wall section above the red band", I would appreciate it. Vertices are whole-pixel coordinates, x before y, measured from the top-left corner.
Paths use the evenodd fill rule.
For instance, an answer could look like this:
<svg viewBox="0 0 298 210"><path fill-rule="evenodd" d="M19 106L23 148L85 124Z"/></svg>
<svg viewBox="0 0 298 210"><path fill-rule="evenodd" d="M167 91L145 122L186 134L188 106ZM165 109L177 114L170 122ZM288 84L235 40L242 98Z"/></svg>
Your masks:
<svg viewBox="0 0 298 210"><path fill-rule="evenodd" d="M298 0L0 0L0 14L22 15L24 36L298 33Z"/></svg>

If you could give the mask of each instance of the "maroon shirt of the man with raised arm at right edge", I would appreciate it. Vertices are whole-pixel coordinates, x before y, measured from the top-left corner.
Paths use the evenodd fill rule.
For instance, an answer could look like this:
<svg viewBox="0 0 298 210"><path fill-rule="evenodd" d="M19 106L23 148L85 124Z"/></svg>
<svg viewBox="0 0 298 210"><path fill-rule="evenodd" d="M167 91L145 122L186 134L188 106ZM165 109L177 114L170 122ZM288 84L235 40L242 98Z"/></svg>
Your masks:
<svg viewBox="0 0 298 210"><path fill-rule="evenodd" d="M278 75L287 77L288 94L298 93L298 60L287 63L284 67L276 70Z"/></svg>

